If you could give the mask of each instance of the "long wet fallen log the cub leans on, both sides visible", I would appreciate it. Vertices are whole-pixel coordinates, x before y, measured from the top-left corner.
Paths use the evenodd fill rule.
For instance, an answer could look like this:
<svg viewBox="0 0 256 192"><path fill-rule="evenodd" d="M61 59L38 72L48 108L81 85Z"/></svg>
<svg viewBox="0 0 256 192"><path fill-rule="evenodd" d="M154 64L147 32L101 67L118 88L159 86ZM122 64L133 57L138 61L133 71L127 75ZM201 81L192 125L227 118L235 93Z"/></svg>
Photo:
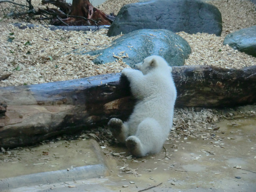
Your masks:
<svg viewBox="0 0 256 192"><path fill-rule="evenodd" d="M176 107L234 107L256 99L256 66L172 68ZM135 100L120 73L0 88L0 147L34 144L61 133L127 119Z"/></svg>

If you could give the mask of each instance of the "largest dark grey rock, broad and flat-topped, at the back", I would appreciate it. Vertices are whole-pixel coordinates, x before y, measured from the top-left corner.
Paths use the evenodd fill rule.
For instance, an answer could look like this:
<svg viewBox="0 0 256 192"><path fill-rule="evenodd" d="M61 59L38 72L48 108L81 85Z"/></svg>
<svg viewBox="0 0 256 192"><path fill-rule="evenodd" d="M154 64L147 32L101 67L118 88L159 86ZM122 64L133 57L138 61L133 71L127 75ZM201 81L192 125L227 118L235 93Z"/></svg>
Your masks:
<svg viewBox="0 0 256 192"><path fill-rule="evenodd" d="M217 7L200 0L154 0L133 3L121 8L108 30L108 36L147 28L220 36L222 19Z"/></svg>

